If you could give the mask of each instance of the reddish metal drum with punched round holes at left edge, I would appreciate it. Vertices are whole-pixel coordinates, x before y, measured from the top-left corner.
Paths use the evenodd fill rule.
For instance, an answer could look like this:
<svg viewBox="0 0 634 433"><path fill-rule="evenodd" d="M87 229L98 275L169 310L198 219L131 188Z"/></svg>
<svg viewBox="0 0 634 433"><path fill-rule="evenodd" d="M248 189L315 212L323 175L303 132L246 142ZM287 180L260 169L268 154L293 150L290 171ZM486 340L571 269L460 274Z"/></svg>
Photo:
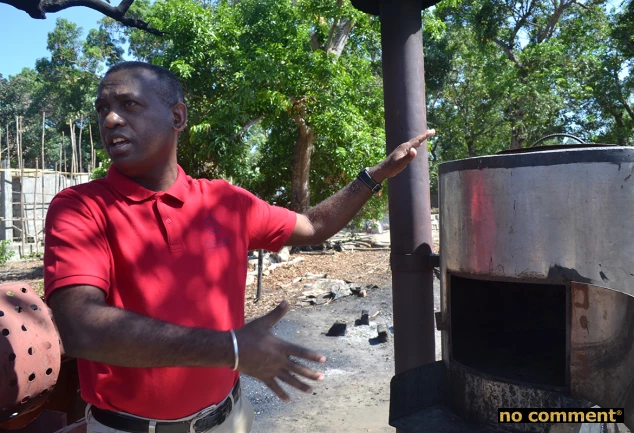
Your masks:
<svg viewBox="0 0 634 433"><path fill-rule="evenodd" d="M37 410L61 363L49 309L25 283L0 285L0 424Z"/></svg>

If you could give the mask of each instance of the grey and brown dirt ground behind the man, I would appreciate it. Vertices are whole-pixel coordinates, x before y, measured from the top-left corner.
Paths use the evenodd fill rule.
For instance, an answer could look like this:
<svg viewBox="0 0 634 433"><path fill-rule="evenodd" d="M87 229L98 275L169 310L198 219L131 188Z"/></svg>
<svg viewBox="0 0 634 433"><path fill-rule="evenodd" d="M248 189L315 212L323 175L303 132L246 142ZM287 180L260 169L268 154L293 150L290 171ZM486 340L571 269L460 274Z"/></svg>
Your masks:
<svg viewBox="0 0 634 433"><path fill-rule="evenodd" d="M325 379L313 385L312 395L289 390L292 401L283 403L261 382L244 377L245 395L256 412L253 433L393 433L395 429L388 425L393 338L387 343L376 338L378 324L393 332L389 250L298 253L291 259L298 256L304 261L264 276L259 302L254 302L256 285L247 287L246 316L247 320L260 316L288 300L292 308L274 332L326 355L324 365L314 366L325 373ZM13 262L0 267L0 282L27 281L41 290L42 273L41 261ZM297 280L309 273L377 288L370 289L367 297L353 295L326 305L302 307L299 299L306 290L305 281ZM438 297L437 281L435 289ZM362 310L370 315L378 313L369 326L355 326ZM346 335L326 336L336 321L347 324Z"/></svg>

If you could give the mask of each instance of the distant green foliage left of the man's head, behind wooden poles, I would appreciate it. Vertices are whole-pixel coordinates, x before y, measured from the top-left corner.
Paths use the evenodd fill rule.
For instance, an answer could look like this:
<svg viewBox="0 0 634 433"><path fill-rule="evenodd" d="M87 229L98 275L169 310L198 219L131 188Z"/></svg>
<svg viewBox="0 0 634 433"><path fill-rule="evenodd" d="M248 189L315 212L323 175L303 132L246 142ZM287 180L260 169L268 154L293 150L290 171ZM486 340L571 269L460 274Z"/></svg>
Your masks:
<svg viewBox="0 0 634 433"><path fill-rule="evenodd" d="M22 117L25 167L34 168L36 159L41 160L44 112L45 168L64 168L61 165L63 163L70 169L69 124L72 123L77 140L79 130L84 129L81 140L82 166L84 171L88 169L89 124L93 129L95 145L99 145L93 116L97 85L105 65L118 61L123 52L118 45L120 39L111 36L110 30L110 21L104 19L100 29L91 30L86 40L82 40L80 27L58 19L55 29L48 35L50 57L39 59L35 70L25 68L8 79L0 77L0 133L6 148L7 130L9 132L12 167L17 166L16 116ZM62 161L64 152L66 159ZM42 168L41 161L38 167Z"/></svg>

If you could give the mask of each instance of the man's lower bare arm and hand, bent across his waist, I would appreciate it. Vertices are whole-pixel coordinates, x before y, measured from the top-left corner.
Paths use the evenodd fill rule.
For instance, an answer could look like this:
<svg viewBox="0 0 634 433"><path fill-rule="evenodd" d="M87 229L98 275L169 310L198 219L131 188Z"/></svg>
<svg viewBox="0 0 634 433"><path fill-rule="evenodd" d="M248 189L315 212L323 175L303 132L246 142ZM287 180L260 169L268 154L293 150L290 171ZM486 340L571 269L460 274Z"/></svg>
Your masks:
<svg viewBox="0 0 634 433"><path fill-rule="evenodd" d="M229 367L234 366L229 332L178 326L141 316L105 303L105 293L93 286L68 286L49 299L67 355L124 367ZM271 332L288 311L283 302L267 315L236 329L238 370L260 379L281 399L288 394L283 381L312 392L300 380L322 380L323 374L297 360L325 362L312 350L277 338Z"/></svg>

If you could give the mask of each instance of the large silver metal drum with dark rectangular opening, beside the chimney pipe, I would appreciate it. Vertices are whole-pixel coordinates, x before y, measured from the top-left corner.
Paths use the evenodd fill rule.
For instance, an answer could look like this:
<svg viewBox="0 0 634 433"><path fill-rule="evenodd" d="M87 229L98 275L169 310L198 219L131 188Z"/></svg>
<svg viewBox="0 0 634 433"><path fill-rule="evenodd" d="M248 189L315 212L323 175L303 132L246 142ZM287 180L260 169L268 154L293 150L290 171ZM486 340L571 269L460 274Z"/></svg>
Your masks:
<svg viewBox="0 0 634 433"><path fill-rule="evenodd" d="M440 166L443 360L459 412L491 423L501 406L581 399L625 408L634 426L633 174L634 148L591 144Z"/></svg>

